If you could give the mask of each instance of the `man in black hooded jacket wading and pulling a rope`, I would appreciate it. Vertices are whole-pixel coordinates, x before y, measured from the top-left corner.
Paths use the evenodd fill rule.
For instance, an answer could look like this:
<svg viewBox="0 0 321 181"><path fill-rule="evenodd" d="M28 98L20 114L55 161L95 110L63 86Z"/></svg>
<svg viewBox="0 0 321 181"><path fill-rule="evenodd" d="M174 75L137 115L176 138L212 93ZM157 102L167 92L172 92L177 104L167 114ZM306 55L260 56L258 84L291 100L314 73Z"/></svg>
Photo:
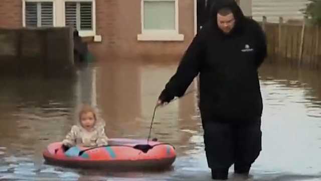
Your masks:
<svg viewBox="0 0 321 181"><path fill-rule="evenodd" d="M265 35L233 0L217 1L156 106L184 95L200 73L200 111L213 179L228 169L248 175L261 151L262 98L257 69L266 57Z"/></svg>

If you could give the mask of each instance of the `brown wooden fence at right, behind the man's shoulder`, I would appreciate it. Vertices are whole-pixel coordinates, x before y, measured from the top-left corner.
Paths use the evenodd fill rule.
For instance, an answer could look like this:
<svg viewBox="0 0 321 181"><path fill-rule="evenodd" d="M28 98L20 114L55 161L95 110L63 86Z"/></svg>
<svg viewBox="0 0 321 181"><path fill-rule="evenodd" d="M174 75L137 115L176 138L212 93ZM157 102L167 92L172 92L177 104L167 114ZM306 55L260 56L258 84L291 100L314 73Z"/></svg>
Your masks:
<svg viewBox="0 0 321 181"><path fill-rule="evenodd" d="M266 33L269 61L319 68L321 61L321 28L302 22L268 23L263 17L261 26Z"/></svg>

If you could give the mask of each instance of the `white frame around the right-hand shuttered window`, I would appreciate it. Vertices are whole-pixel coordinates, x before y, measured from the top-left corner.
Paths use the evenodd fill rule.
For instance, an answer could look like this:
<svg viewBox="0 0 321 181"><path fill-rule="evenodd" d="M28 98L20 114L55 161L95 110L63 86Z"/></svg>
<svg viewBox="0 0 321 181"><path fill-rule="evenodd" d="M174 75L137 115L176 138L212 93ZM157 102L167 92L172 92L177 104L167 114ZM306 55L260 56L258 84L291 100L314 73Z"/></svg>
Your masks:
<svg viewBox="0 0 321 181"><path fill-rule="evenodd" d="M92 3L92 30L78 30L81 37L92 37L96 35L96 1L95 0L61 0L63 2L63 26L66 26L66 2L91 2Z"/></svg>

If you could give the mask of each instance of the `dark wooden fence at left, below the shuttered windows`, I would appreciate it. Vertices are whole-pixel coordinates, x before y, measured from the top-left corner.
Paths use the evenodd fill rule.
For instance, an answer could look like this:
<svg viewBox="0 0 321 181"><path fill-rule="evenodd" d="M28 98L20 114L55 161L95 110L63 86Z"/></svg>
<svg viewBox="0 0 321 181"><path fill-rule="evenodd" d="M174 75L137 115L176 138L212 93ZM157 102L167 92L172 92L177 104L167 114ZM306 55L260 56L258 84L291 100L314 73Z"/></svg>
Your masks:
<svg viewBox="0 0 321 181"><path fill-rule="evenodd" d="M73 34L68 27L0 28L0 73L47 73L73 66Z"/></svg>

